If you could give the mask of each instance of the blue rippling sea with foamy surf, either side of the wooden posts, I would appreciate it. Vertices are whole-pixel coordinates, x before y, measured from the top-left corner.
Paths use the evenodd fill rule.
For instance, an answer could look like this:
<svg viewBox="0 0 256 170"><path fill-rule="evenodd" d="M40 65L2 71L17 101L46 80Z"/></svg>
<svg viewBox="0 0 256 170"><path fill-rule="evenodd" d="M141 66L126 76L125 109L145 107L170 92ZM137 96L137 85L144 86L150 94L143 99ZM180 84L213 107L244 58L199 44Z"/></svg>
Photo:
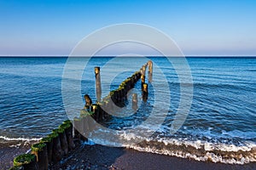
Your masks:
<svg viewBox="0 0 256 170"><path fill-rule="evenodd" d="M95 66L104 98L149 59L148 99L138 81L90 144L198 161L256 161L255 57L1 57L0 143L43 138L79 116L84 94L96 103Z"/></svg>

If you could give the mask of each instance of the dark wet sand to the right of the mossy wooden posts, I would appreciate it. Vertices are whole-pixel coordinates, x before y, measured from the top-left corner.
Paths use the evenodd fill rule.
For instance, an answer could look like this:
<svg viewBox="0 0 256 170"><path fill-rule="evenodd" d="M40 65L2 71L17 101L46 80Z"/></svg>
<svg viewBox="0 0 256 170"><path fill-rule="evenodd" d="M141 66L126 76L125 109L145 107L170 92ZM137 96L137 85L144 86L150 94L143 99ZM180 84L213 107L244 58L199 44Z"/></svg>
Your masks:
<svg viewBox="0 0 256 170"><path fill-rule="evenodd" d="M195 161L102 145L80 145L50 169L256 169L256 162L230 165Z"/></svg>

